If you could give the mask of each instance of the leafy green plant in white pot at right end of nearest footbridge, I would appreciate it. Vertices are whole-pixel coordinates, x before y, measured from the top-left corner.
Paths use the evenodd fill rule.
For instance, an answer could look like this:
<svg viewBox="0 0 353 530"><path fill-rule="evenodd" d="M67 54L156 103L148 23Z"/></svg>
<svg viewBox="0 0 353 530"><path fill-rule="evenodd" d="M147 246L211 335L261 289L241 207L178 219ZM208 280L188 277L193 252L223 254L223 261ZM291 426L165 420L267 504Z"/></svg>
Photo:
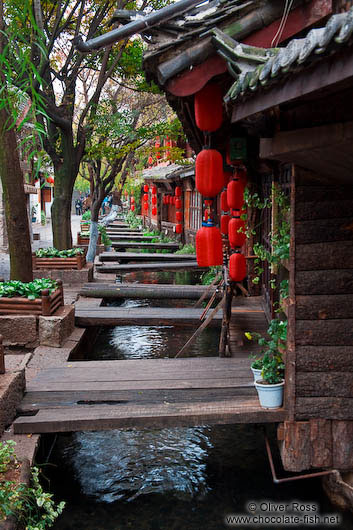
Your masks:
<svg viewBox="0 0 353 530"><path fill-rule="evenodd" d="M269 338L259 333L246 333L248 339L257 339L262 347L262 357L255 366L261 366L260 377L255 378L255 387L263 408L278 408L283 402L284 361L283 350L287 340L287 321L274 319L267 330ZM253 369L253 367L252 367Z"/></svg>

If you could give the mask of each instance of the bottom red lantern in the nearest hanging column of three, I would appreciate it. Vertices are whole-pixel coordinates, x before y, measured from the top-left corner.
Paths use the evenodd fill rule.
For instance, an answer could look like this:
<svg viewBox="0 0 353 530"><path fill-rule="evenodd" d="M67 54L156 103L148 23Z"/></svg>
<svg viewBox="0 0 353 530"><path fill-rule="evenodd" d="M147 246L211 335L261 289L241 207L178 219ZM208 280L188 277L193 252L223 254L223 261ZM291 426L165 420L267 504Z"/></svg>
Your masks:
<svg viewBox="0 0 353 530"><path fill-rule="evenodd" d="M223 263L221 232L211 223L196 233L196 259L199 267L212 267Z"/></svg>

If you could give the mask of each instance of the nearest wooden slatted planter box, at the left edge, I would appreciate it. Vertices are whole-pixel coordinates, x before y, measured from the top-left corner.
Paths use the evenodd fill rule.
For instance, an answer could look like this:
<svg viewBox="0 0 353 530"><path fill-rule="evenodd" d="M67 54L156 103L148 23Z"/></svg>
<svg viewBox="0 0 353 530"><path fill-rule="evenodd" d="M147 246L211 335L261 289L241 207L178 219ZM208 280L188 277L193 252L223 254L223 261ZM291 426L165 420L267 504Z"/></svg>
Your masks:
<svg viewBox="0 0 353 530"><path fill-rule="evenodd" d="M42 291L42 297L28 300L23 296L0 298L0 315L43 315L49 316L64 305L63 283L57 280L58 288L49 294L48 289Z"/></svg>

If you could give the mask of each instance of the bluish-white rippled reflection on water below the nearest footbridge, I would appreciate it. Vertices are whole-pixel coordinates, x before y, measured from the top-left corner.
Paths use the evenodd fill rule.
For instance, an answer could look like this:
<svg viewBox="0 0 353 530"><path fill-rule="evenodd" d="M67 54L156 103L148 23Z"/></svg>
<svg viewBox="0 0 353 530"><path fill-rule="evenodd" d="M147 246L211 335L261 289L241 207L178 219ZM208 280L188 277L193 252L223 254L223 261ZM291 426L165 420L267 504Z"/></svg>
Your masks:
<svg viewBox="0 0 353 530"><path fill-rule="evenodd" d="M209 489L210 447L207 428L82 432L73 434L65 458L82 493L100 502L168 491L190 498Z"/></svg>

